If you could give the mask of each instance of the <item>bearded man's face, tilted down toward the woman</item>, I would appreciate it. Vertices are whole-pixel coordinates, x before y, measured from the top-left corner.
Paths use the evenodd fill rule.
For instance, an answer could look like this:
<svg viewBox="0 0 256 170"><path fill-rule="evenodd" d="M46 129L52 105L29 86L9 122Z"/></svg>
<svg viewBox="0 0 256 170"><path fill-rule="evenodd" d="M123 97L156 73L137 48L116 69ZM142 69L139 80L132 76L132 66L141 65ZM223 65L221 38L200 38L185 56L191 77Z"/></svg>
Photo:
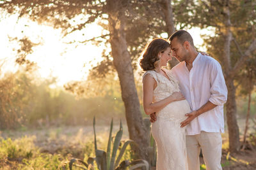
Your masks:
<svg viewBox="0 0 256 170"><path fill-rule="evenodd" d="M186 50L180 41L175 37L171 41L172 56L175 57L179 62L186 60Z"/></svg>

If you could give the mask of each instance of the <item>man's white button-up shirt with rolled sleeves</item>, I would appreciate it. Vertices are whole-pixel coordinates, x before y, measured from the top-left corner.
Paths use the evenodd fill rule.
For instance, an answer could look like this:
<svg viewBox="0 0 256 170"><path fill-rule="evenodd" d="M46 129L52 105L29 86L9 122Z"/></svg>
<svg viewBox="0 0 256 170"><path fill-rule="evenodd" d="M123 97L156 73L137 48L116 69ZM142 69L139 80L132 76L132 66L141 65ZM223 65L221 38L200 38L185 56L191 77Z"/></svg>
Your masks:
<svg viewBox="0 0 256 170"><path fill-rule="evenodd" d="M198 53L190 71L183 61L173 67L172 73L179 81L180 90L192 111L198 110L208 101L218 105L192 120L187 125L186 134L224 132L223 104L227 101L227 86L219 62Z"/></svg>

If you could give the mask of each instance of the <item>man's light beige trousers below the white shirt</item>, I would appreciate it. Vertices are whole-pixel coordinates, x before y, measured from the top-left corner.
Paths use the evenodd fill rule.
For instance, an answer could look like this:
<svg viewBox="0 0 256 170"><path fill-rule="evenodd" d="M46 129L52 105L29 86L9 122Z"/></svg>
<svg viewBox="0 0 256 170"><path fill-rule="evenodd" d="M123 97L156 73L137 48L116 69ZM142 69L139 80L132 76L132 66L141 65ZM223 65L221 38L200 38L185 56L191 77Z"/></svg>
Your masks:
<svg viewBox="0 0 256 170"><path fill-rule="evenodd" d="M186 136L186 146L189 170L200 169L200 148L202 149L207 170L222 169L220 164L222 146L220 133L201 131L200 134Z"/></svg>

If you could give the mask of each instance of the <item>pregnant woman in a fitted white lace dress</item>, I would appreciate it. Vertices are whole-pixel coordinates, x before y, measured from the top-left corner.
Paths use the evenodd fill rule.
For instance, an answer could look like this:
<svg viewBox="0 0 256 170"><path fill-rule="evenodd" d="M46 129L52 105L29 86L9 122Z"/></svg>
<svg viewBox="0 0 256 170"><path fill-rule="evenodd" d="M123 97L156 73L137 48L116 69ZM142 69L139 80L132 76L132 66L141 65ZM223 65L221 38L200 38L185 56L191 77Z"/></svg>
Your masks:
<svg viewBox="0 0 256 170"><path fill-rule="evenodd" d="M153 39L145 48L140 66L143 75L143 107L145 113L156 112L151 131L157 145L157 170L188 169L185 128L180 122L190 113L188 101L181 94L179 83L166 66L172 59L170 43Z"/></svg>

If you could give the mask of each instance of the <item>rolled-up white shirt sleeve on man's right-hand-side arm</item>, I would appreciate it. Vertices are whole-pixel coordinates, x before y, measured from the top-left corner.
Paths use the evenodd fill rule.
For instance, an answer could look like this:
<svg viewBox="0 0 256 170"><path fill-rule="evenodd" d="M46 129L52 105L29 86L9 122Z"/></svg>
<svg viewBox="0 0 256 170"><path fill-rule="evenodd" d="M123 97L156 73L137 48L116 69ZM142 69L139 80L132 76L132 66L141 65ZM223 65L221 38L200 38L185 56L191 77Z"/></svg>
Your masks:
<svg viewBox="0 0 256 170"><path fill-rule="evenodd" d="M216 60L212 60L209 71L211 71L211 97L209 101L216 105L223 105L227 101L227 86L221 70L221 66Z"/></svg>

